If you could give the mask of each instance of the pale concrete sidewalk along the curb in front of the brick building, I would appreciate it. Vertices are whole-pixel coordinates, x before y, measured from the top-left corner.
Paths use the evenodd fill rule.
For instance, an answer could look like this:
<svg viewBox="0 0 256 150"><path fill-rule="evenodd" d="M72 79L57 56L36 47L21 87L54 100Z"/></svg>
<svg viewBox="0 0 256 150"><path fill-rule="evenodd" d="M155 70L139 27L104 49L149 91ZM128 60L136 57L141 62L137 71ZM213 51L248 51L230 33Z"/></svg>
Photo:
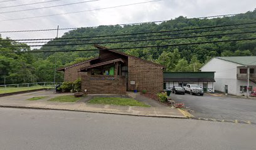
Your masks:
<svg viewBox="0 0 256 150"><path fill-rule="evenodd" d="M187 118L179 109L170 107L142 108L136 106L117 106L88 103L61 103L46 100L27 101L18 99L18 96L6 96L0 98L0 107L8 108L32 108L32 109L53 109L64 111L83 111L91 113L124 114L131 116L151 116L163 118Z"/></svg>

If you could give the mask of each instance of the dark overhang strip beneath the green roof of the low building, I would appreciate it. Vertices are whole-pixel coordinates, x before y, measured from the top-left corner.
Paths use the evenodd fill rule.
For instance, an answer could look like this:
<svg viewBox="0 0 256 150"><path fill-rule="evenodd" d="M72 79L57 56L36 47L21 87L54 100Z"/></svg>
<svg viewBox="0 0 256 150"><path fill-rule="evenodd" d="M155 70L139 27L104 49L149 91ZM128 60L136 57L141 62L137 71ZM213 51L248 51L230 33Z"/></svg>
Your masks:
<svg viewBox="0 0 256 150"><path fill-rule="evenodd" d="M215 82L214 78L165 77L164 82Z"/></svg>

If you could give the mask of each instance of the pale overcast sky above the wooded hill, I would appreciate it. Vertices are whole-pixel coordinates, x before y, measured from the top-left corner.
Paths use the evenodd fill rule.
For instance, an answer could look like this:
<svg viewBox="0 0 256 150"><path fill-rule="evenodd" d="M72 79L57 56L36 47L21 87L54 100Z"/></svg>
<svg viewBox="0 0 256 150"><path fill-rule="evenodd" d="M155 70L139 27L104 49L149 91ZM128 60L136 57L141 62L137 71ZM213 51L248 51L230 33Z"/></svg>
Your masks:
<svg viewBox="0 0 256 150"><path fill-rule="evenodd" d="M7 19L18 19L21 17L45 16L65 12L108 8L112 6L120 6L124 4L132 4L152 0L100 0L73 4L69 6L60 6L55 8L11 13L3 12L42 8L46 6L55 6L60 4L83 2L89 0L59 0L41 4L18 6L13 8L3 7L15 6L19 4L29 4L33 2L43 2L43 0L13 0L8 2L1 1L0 32L31 29L53 29L56 28L56 26L58 25L60 25L60 28L87 27L109 24L125 24L132 22L161 21L174 19L178 16L201 17L220 14L237 14L247 11L253 11L253 9L256 8L255 0L163 0L120 8L104 9L99 11L87 11L50 17L4 21ZM60 36L63 35L63 32L67 31L60 31ZM56 31L1 33L1 35L2 37L8 36L12 39L54 38L56 36Z"/></svg>

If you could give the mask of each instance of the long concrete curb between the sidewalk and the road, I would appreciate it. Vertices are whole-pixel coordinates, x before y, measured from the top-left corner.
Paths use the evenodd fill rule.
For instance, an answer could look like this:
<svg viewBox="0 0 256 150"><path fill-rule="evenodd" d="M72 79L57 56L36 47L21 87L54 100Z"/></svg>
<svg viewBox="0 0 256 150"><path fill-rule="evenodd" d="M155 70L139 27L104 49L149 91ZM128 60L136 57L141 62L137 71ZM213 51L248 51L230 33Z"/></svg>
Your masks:
<svg viewBox="0 0 256 150"><path fill-rule="evenodd" d="M127 115L127 116L143 116L143 117L154 117L154 118L189 119L186 116L181 117L181 116L165 116L165 115L129 114L129 113L106 112L106 111L85 111L85 110L74 110L74 109L37 108L37 107L27 107L27 106L3 106L3 105L0 105L0 108L41 109L41 110L54 110L54 111L78 111L78 112L86 112L86 113L119 114L119 115Z"/></svg>

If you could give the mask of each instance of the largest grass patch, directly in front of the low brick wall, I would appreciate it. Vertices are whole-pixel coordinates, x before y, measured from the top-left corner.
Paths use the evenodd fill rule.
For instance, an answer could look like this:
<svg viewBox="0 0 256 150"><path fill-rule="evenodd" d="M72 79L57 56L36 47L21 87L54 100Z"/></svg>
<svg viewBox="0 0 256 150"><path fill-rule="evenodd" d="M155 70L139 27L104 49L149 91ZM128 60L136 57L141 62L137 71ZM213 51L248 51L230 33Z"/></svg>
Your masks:
<svg viewBox="0 0 256 150"><path fill-rule="evenodd" d="M141 103L141 102L136 101L135 99L131 99L131 98L93 98L88 103L150 107L144 103Z"/></svg>

